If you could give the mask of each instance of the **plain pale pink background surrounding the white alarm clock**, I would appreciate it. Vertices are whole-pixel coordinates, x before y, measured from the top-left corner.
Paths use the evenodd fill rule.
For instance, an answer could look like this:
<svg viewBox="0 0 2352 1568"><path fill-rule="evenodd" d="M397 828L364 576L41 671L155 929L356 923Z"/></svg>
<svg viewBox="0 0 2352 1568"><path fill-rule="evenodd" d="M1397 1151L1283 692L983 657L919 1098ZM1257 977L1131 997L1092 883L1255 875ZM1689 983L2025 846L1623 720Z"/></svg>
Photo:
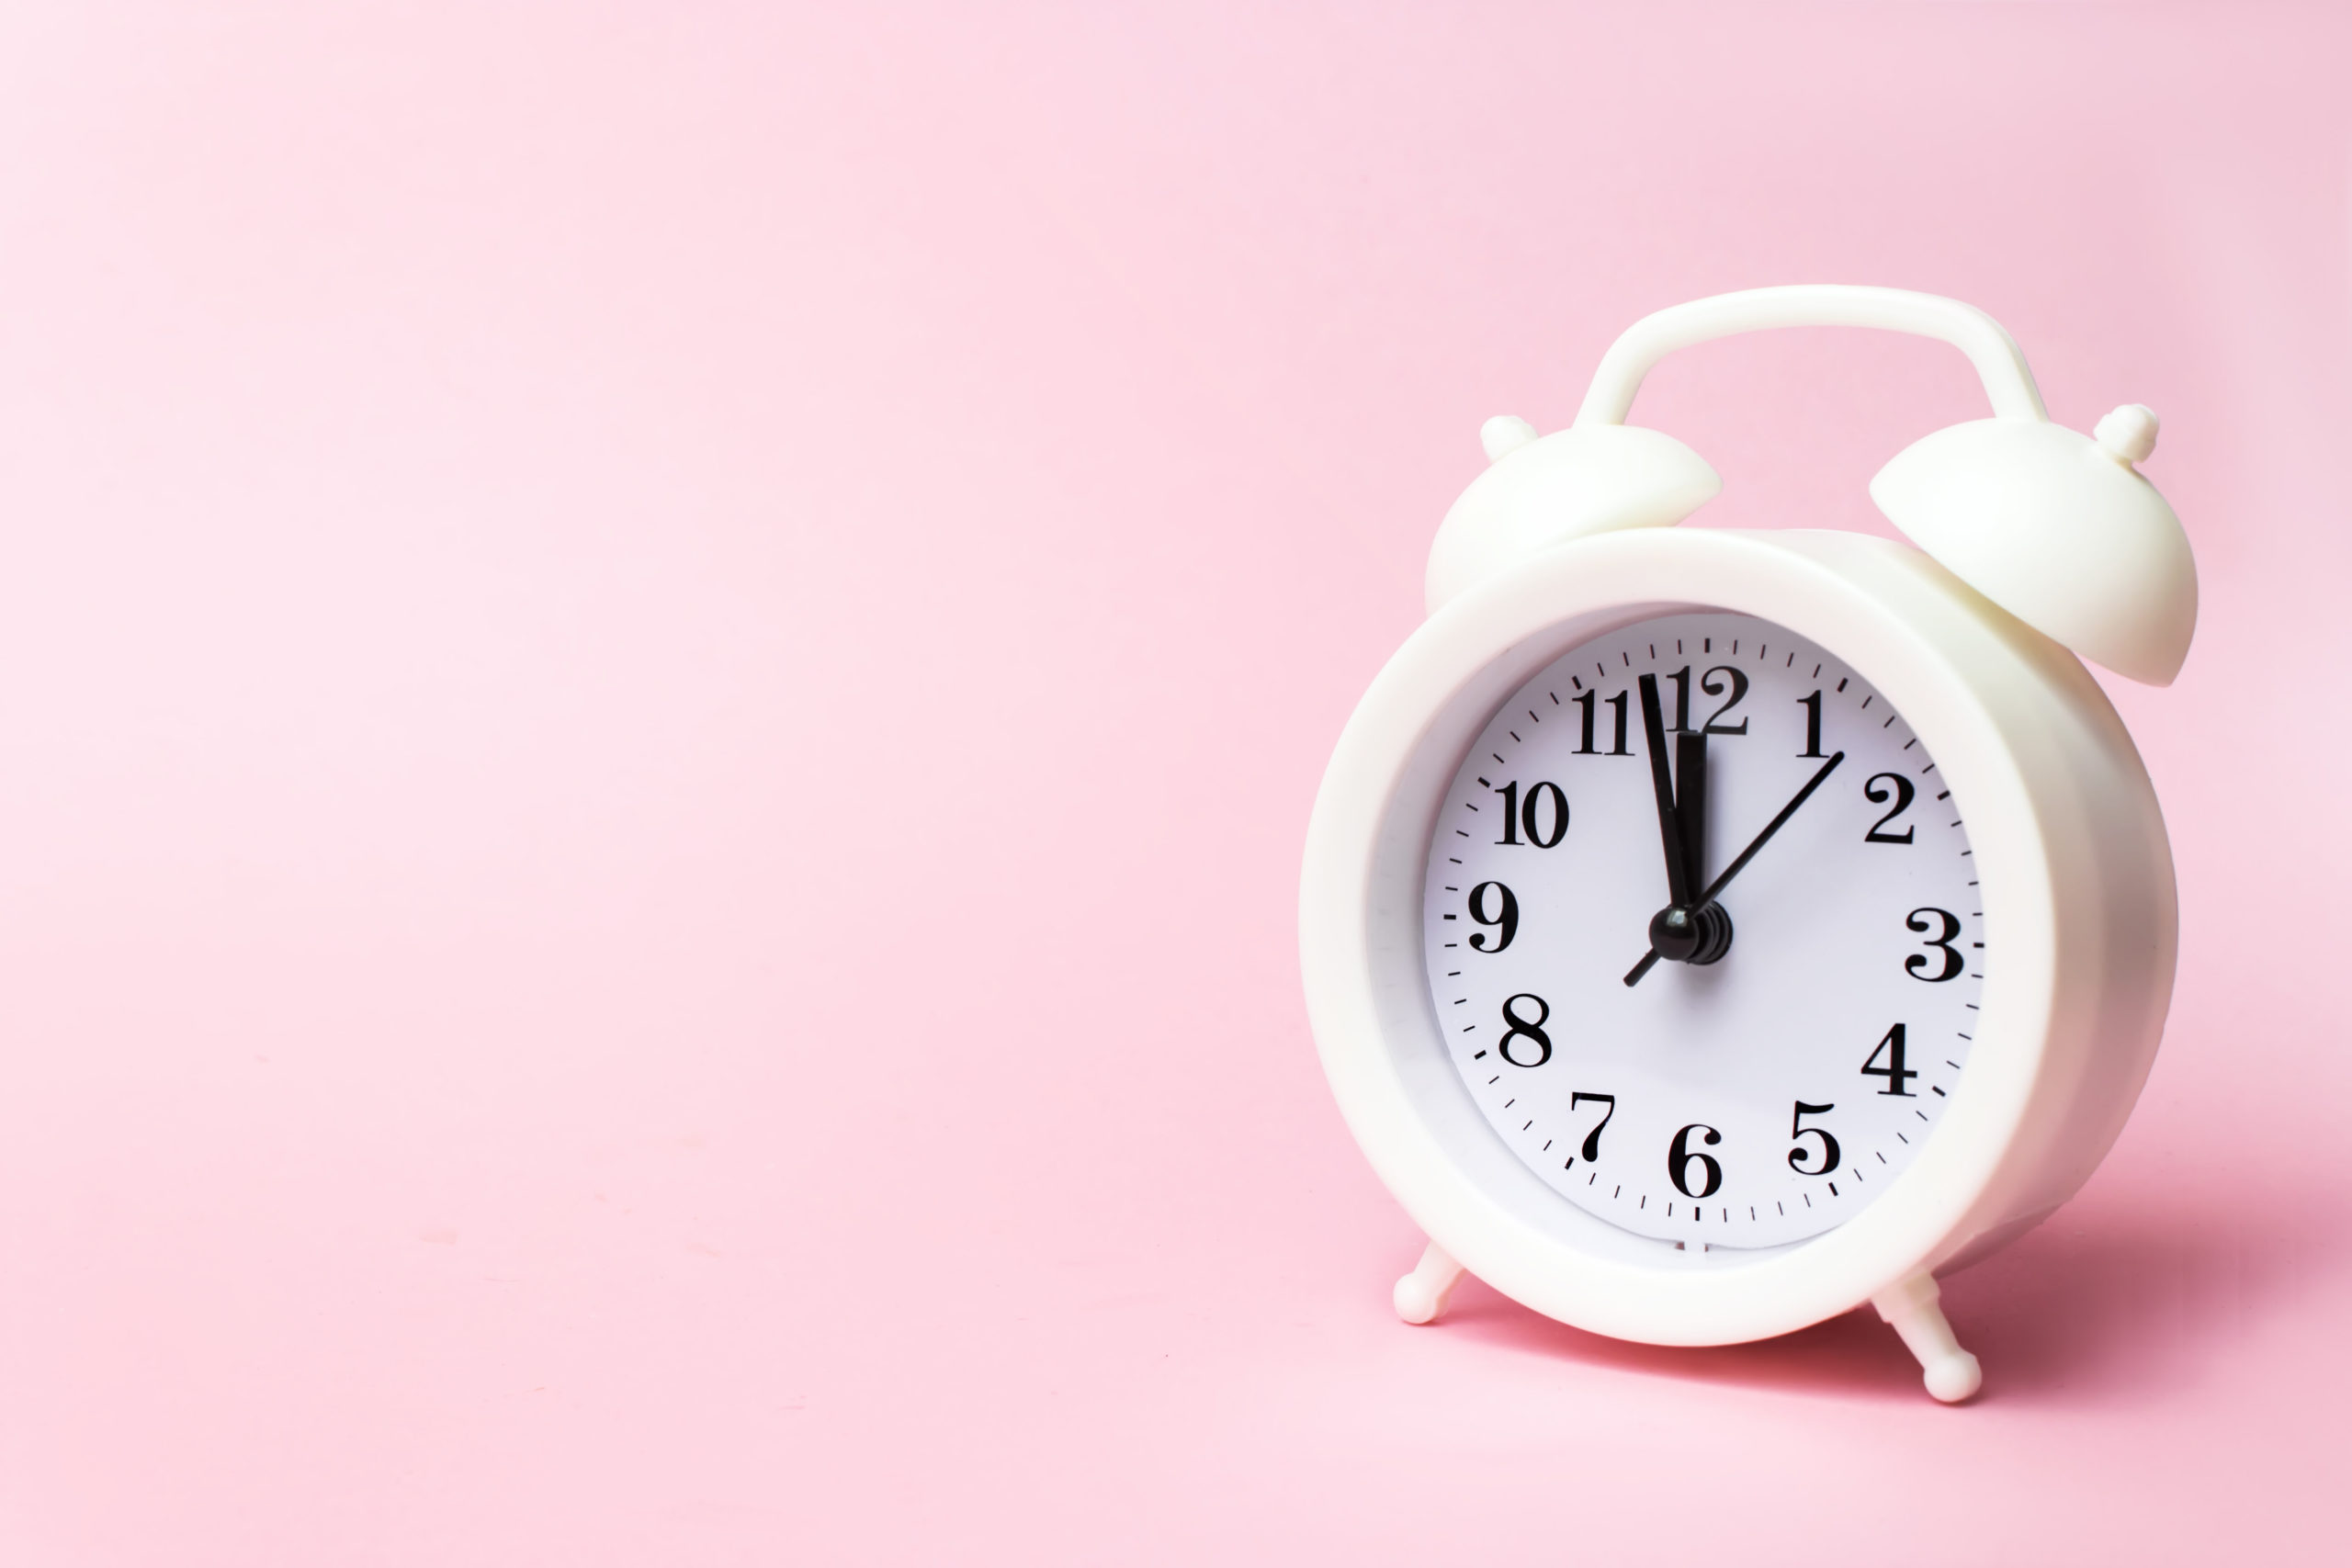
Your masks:
<svg viewBox="0 0 2352 1568"><path fill-rule="evenodd" d="M779 14L783 12L783 14ZM2352 33L2227 5L9 7L0 1556L2279 1561L2352 1399ZM2145 400L2183 971L1893 1335L1465 1286L1331 1110L1324 757L1477 423L1790 280ZM1875 527L1980 409L1637 421Z"/></svg>

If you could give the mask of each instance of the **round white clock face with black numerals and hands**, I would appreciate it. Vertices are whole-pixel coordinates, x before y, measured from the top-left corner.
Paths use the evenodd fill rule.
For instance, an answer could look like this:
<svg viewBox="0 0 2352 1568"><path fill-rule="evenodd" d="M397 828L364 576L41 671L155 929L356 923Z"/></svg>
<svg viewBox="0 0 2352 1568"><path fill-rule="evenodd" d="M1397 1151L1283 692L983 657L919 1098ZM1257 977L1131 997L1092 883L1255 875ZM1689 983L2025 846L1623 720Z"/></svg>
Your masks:
<svg viewBox="0 0 2352 1568"><path fill-rule="evenodd" d="M1926 745L1733 614L1609 632L1503 703L1437 813L1423 947L1503 1143L1691 1248L1802 1241L1886 1192L1969 1063L1987 957Z"/></svg>

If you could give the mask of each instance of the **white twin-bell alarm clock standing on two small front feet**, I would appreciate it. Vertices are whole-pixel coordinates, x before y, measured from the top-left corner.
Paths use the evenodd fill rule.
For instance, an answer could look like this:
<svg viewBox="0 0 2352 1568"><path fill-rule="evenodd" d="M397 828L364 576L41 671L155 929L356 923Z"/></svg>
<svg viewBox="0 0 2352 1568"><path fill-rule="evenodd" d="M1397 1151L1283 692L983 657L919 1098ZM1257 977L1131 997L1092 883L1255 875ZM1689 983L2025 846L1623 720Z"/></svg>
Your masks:
<svg viewBox="0 0 2352 1568"><path fill-rule="evenodd" d="M1976 364L1992 418L1870 484L1917 550L1672 527L1722 482L1623 423L1642 376L1797 324ZM2077 661L2187 654L2154 430L2065 430L1992 317L1860 287L1661 310L1571 428L1486 423L1301 886L1331 1091L1428 1234L1406 1321L1465 1269L1653 1345L1872 1302L1936 1399L1978 1389L1936 1274L2082 1187L2171 999L2164 818Z"/></svg>

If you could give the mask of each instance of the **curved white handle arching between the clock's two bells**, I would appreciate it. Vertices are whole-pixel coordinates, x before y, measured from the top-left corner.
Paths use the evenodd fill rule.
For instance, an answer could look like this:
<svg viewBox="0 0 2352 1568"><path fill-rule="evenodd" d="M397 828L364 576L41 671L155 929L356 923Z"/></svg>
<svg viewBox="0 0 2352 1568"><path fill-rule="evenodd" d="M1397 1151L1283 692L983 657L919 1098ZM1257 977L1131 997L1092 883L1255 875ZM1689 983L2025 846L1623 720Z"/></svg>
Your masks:
<svg viewBox="0 0 2352 1568"><path fill-rule="evenodd" d="M2049 421L2016 339L1976 306L1940 294L1823 282L1717 294L1644 315L1602 355L1576 423L1625 423L1642 378L1677 348L1773 327L1879 327L1938 339L1969 355L1994 416Z"/></svg>

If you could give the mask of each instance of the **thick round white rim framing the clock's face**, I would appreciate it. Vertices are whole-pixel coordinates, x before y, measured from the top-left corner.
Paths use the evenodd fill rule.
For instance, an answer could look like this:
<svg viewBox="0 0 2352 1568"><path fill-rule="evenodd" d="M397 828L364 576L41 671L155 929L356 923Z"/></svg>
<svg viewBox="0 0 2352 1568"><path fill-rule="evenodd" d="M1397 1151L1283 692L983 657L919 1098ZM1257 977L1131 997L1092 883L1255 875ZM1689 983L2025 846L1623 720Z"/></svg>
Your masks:
<svg viewBox="0 0 2352 1568"><path fill-rule="evenodd" d="M1903 595L1865 588L1795 534L1628 531L1529 557L1444 604L1404 642L1350 717L1315 802L1301 969L1341 1112L1437 1246L1505 1295L1578 1328L1668 1345L1736 1342L1870 1300L1992 1229L1971 1220L1983 1220L1985 1199L1999 1192L2044 1084L2060 1004L2058 867L2025 745L2009 733L2016 715L2004 724L1987 701L2016 675L2002 668L2004 649L2018 632L2037 635L1907 545L1835 538L1839 548L1917 557L1912 576L1929 590L1898 604ZM1449 1093L1475 1105L1444 1060L1421 964L1402 987L1381 964L1392 966L1395 924L1406 919L1397 896L1418 893L1428 865L1435 795L1498 703L1557 654L1613 625L1710 609L1759 616L1820 644L1903 712L1964 806L1985 929L1999 936L1987 938L1997 947L1969 1070L1910 1168L1830 1232L1693 1255L1621 1232L1550 1192L1482 1117L1472 1114L1475 1131L1456 1126ZM1404 875L1399 863L1409 863ZM1402 903L1418 950L1418 898ZM1414 1006L1425 1025L1418 1034ZM1430 1046L1442 1074L1428 1072ZM1477 1135L1524 1187L1479 1152ZM1550 1222L1548 1208L1609 1237ZM1618 1246L1618 1237L1635 1246Z"/></svg>

